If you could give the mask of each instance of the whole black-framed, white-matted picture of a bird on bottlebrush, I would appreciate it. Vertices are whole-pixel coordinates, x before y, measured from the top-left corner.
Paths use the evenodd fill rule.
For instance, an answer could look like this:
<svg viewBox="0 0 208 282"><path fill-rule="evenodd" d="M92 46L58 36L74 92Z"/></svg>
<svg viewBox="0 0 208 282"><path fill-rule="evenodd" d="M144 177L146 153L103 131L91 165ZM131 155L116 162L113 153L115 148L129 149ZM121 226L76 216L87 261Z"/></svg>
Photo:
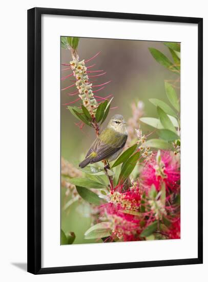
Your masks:
<svg viewBox="0 0 208 282"><path fill-rule="evenodd" d="M28 271L202 264L202 18L28 10Z"/></svg>

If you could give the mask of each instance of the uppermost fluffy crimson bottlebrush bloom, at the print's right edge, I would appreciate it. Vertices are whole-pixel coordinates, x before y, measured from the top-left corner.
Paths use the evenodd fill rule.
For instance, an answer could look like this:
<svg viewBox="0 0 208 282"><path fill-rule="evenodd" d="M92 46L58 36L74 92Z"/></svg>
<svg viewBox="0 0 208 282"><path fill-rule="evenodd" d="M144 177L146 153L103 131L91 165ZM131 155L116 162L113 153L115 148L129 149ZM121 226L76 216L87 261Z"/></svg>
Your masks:
<svg viewBox="0 0 208 282"><path fill-rule="evenodd" d="M166 188L176 191L177 182L180 180L179 160L169 151L162 151L159 162L152 159L143 168L140 176L144 185L151 187L154 184L157 191L160 189L161 180L165 183Z"/></svg>

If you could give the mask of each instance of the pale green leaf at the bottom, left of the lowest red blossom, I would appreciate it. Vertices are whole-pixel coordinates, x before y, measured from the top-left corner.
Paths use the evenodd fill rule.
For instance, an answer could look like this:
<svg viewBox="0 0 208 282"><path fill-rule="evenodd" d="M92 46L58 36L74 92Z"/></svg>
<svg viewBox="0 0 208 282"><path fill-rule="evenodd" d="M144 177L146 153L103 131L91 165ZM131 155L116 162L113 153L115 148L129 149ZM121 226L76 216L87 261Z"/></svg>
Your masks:
<svg viewBox="0 0 208 282"><path fill-rule="evenodd" d="M85 232L85 239L99 239L111 236L109 222L98 223Z"/></svg>

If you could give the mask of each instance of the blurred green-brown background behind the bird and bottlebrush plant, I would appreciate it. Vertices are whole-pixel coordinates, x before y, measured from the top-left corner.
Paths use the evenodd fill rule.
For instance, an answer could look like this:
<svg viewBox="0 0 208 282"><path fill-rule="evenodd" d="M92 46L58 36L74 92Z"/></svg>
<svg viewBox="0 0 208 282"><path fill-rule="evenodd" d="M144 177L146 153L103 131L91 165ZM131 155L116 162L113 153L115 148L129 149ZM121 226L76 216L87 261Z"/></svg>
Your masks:
<svg viewBox="0 0 208 282"><path fill-rule="evenodd" d="M164 80L175 80L178 76L155 61L148 49L150 47L160 50L171 59L169 49L162 42L80 38L78 45L80 60L91 58L101 51L88 64L88 66L96 64L91 70L107 72L106 75L95 78L96 84L111 80L111 83L105 89L97 92L97 95L105 97L113 94L112 107L118 107L110 111L103 128L105 128L108 119L116 113L122 114L128 120L132 116L131 104L134 101L141 100L144 103L144 116L151 117L157 117L157 112L156 107L149 102L150 98L158 98L169 104L164 90ZM61 63L69 64L71 59L70 51L61 49ZM67 67L61 66L61 69L64 68ZM70 70L61 71L61 77L70 73ZM93 80L95 79L93 78ZM73 78L69 77L63 80L61 88L71 85L73 82L70 80ZM72 87L61 91L61 105L77 98L77 96L66 95L74 90L75 88ZM80 102L74 105L79 106ZM77 167L79 160L85 156L95 139L95 132L93 128L87 126L80 130L75 123L77 123L77 119L67 110L66 106L61 106L61 156ZM152 131L151 127L142 123L141 129L145 133ZM75 232L75 244L94 243L94 240L84 239L84 233L91 225L88 206L80 206L76 202L67 210L63 210L63 206L68 200L65 193L66 189L61 188L61 228L65 232Z"/></svg>

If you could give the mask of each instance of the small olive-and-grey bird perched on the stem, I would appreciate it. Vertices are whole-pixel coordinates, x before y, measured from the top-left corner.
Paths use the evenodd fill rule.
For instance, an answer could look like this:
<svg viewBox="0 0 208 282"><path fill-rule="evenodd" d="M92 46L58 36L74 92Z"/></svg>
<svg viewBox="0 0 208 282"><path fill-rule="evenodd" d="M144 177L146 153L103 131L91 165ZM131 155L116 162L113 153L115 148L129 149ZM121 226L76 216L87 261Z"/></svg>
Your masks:
<svg viewBox="0 0 208 282"><path fill-rule="evenodd" d="M116 159L122 152L127 137L128 133L123 116L115 114L108 123L107 128L94 140L86 158L79 164L79 167L84 168L103 159L110 162Z"/></svg>

